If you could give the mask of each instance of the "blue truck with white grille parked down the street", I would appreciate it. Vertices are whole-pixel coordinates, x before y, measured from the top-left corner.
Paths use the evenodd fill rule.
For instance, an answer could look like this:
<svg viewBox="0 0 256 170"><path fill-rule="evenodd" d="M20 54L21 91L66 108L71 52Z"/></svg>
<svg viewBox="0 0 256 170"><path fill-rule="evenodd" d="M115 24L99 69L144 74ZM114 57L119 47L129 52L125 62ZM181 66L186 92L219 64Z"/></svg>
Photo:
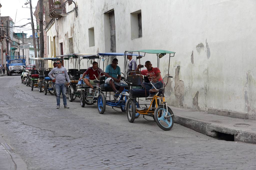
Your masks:
<svg viewBox="0 0 256 170"><path fill-rule="evenodd" d="M7 75L21 74L23 72L23 66L26 66L25 56L14 56L17 59L6 60Z"/></svg>

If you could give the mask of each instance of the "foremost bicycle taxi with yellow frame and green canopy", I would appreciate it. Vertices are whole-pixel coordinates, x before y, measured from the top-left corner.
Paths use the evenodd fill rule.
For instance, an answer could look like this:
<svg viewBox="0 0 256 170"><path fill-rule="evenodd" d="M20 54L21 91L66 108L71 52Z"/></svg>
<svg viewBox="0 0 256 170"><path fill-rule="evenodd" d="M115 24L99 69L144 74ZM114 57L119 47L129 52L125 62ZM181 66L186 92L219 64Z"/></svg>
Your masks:
<svg viewBox="0 0 256 170"><path fill-rule="evenodd" d="M157 59L157 67L159 68L159 61L160 59L168 54L169 56L169 65L170 65L170 57L174 57L175 52L173 51L167 51L167 50L137 50L137 51L125 51L127 54L130 53L138 53L143 54L143 57L145 57L145 54L156 54ZM140 57L139 63L140 62ZM153 89L150 89L149 91L143 88L143 81L148 80L147 76L145 76L142 79L141 72L129 72L127 76L127 84L130 85L129 87L129 95L127 95L128 99L126 100L126 112L127 112L127 118L129 122L134 122L135 119L135 113L142 114L147 116L153 116L156 124L163 130L170 130L173 127L173 121L174 121L174 114L172 110L168 107L167 102L165 101L164 96L164 90L168 83L168 78L172 78L172 76L169 76L169 65L168 65L168 74L167 76L163 77L163 86L159 89L157 89L152 82L151 85L154 87ZM140 68L141 71L141 68ZM131 73L135 73L133 75L130 75ZM164 79L167 78L167 82L164 82ZM141 88L134 88L134 86L141 87ZM153 99L151 100L151 103L149 107L147 107L148 104L138 104L139 106L145 105L145 107L136 107L135 102L139 103L139 98L145 98L149 96L149 93L155 93ZM154 106L155 105L155 106Z"/></svg>

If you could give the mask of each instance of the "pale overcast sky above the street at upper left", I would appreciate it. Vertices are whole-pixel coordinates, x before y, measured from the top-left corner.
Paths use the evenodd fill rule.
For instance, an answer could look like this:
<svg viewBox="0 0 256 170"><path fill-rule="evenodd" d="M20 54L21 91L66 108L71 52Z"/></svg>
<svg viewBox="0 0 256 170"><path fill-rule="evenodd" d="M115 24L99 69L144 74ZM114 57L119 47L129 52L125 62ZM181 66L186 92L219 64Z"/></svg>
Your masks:
<svg viewBox="0 0 256 170"><path fill-rule="evenodd" d="M35 11L34 8L37 5L37 1L38 0L31 0L33 13ZM2 7L0 8L1 17L10 16L13 19L13 22L15 22L15 16L16 16L15 26L24 25L28 22L31 22L31 20L27 20L28 18L30 18L30 9L29 9L29 4L24 5L24 3L26 2L27 0L0 0L0 3L2 5ZM28 7L28 8L22 8L22 6ZM16 15L16 11L17 11L17 15ZM34 15L33 15L33 19L35 20ZM35 22L34 25L36 29L36 21L34 22ZM31 25L28 24L26 25L25 28L15 28L14 30L14 32L22 32L22 31L24 33L27 33L27 37L29 37L30 35L32 35Z"/></svg>

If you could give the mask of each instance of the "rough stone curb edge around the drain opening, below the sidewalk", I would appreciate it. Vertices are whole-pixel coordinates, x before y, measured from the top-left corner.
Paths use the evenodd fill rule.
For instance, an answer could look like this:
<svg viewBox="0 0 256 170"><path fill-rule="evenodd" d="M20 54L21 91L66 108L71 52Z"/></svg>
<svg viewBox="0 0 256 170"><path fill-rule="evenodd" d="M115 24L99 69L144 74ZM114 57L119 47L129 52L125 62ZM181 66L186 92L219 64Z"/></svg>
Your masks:
<svg viewBox="0 0 256 170"><path fill-rule="evenodd" d="M236 128L225 127L222 124L202 121L187 116L181 116L177 114L175 114L174 116L175 123L181 124L205 135L217 137L218 132L221 132L224 134L234 135L234 141L256 144L256 131L253 131L251 129L239 130Z"/></svg>

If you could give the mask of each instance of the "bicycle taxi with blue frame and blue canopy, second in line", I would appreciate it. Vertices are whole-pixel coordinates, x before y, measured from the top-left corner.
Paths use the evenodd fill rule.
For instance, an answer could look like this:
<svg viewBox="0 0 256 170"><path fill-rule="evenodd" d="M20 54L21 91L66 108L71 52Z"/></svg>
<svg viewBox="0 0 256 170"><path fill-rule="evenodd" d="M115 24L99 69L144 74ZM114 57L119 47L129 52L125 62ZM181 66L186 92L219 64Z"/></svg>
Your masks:
<svg viewBox="0 0 256 170"><path fill-rule="evenodd" d="M123 56L124 60L126 59L126 55L124 53L99 53L98 54L100 56L100 61L103 60L103 65L105 63L105 60L107 60L107 64L109 63L110 61L110 64L111 64L111 61L112 59L114 59L115 57L120 57L120 56ZM129 55L132 55L132 56L138 56L137 54L129 54ZM106 57L104 59L104 57ZM126 62L126 60L125 60ZM103 72L101 73L105 73L104 72L104 69L103 69ZM121 80L124 82L125 81L125 75L124 73L121 73L123 76L121 77ZM100 114L103 114L105 112L105 109L106 109L106 105L107 106L111 106L113 109L114 107L116 108L120 108L122 112L125 112L125 103L126 103L126 100L127 100L127 97L125 96L126 93L128 93L128 86L126 83L123 83L123 84L120 84L121 87L124 87L123 91L120 91L121 93L119 95L113 95L113 97L115 98L112 98L112 95L111 95L111 92L114 92L113 89L110 87L109 84L105 84L105 76L101 76L100 74L100 77L99 77L99 80L95 81L95 82L98 82L98 86L97 88L99 88L100 90L100 93L98 95L98 100L97 100L97 108L98 108L98 112ZM116 86L115 85L115 88L117 90L119 90L119 86ZM115 109L114 109L115 110ZM115 110L117 111L117 110ZM136 117L138 117L139 114L136 115Z"/></svg>

